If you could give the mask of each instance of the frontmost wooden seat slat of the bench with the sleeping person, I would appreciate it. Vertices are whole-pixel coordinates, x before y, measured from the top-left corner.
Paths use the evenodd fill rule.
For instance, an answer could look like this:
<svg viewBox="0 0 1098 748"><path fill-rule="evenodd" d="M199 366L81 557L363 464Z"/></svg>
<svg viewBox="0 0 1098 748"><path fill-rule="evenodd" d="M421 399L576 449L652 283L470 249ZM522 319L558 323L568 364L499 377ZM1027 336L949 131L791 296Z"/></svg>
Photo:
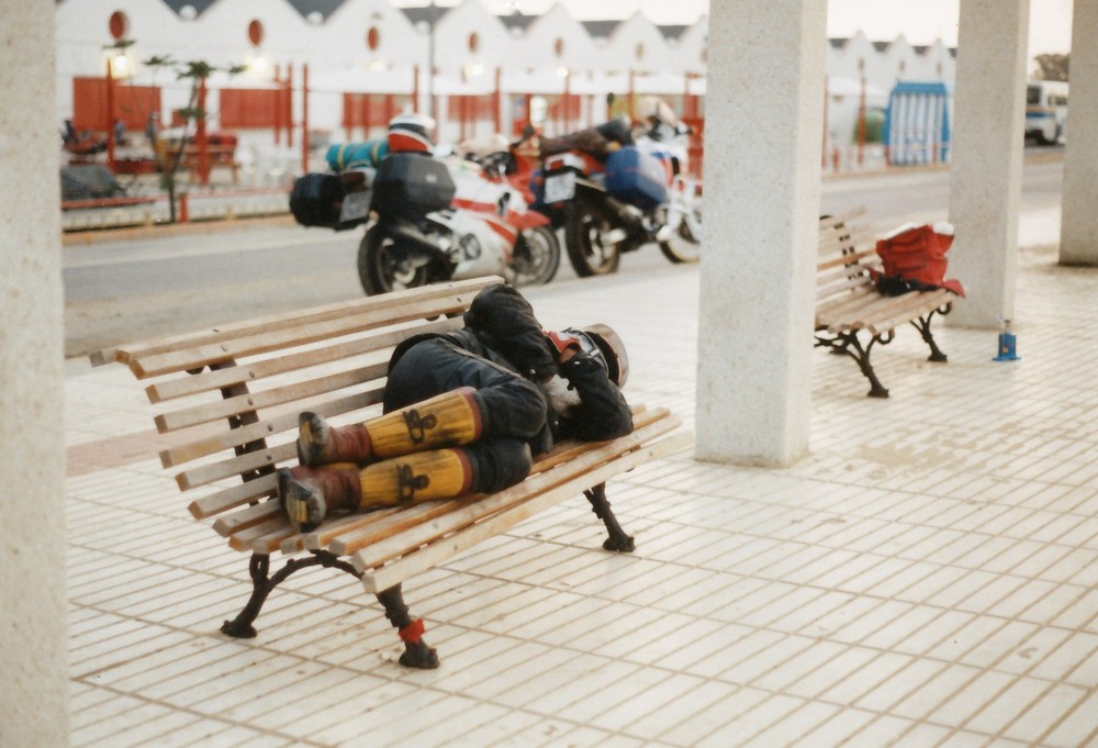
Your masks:
<svg viewBox="0 0 1098 748"><path fill-rule="evenodd" d="M567 483L531 496L528 501L500 512L485 522L468 526L447 537L445 542L433 543L429 546L422 547L383 567L368 569L365 566L363 559L360 559L360 554L352 556L351 562L356 569L363 572L362 584L366 590L377 594L421 571L437 566L447 558L471 548L485 538L517 525L519 522L529 518L544 509L548 509L575 495L576 490L581 485L589 488L596 485L625 470L631 470L653 459L682 451L692 443L693 437L690 434L675 434L654 444L647 445L636 451L621 456L614 462L576 476ZM563 467L559 469L563 469ZM362 566L360 567L360 565Z"/></svg>

